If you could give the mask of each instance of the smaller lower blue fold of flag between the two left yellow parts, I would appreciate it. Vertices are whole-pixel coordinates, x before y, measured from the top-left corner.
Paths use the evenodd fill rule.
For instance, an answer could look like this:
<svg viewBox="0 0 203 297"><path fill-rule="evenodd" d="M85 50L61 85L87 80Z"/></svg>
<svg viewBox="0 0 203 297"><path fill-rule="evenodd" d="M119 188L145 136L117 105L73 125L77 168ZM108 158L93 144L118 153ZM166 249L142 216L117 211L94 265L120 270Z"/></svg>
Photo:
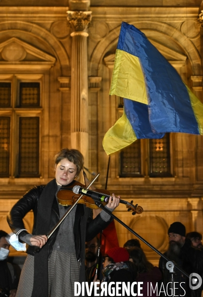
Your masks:
<svg viewBox="0 0 203 297"><path fill-rule="evenodd" d="M142 138L162 138L164 133L156 133L152 131L149 121L148 105L133 101L130 99L123 99L126 116L136 131L136 137Z"/></svg>

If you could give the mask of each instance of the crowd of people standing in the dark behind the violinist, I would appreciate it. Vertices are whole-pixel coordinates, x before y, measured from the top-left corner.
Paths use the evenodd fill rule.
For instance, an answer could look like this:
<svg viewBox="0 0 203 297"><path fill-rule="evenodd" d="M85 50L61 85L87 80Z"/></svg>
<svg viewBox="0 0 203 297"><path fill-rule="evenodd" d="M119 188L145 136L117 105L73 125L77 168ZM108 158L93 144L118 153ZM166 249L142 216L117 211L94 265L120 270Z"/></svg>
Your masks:
<svg viewBox="0 0 203 297"><path fill-rule="evenodd" d="M164 253L170 260L174 261L186 273L198 273L203 276L203 248L202 236L200 233L191 232L185 234L185 226L180 222L174 222L168 229L169 246ZM194 245L193 243L198 245ZM18 278L12 264L8 263L9 253L8 234L0 230L0 296L15 297L18 287ZM131 239L123 247L113 247L104 256L98 259L99 239L95 236L91 241L86 242L85 246L85 281L106 282L107 285L113 282L111 290L115 288L117 282L142 283L143 297L148 296L167 296L171 295L168 290L171 286L167 284L182 283L176 285L176 296L201 297L202 286L193 290L189 286L189 279L175 268L173 276L166 269L166 260L160 258L159 267L153 266L148 261L139 240ZM97 268L97 275L95 275ZM30 280L31 282L32 280ZM157 286L158 284L158 286ZM30 283L27 284L30 286ZM153 288L153 290L149 290ZM135 290L136 286L135 286ZM94 292L93 292L94 293ZM2 294L2 295L1 295ZM24 297L21 293L18 295ZM29 296L29 295L25 295ZM39 295L43 296L43 295ZM64 293L50 296L65 297ZM68 296L74 296L68 295ZM94 296L94 294L92 295ZM110 296L110 295L107 295ZM129 296L129 295L123 295ZM132 295L130 295L132 296Z"/></svg>

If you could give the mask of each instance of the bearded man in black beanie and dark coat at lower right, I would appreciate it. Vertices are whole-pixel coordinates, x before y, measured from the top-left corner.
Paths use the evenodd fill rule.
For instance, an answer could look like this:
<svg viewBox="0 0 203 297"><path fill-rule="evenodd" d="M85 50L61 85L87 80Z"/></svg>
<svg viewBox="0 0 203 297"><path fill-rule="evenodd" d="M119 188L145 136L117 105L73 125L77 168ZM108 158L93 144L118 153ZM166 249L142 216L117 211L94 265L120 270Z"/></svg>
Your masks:
<svg viewBox="0 0 203 297"><path fill-rule="evenodd" d="M186 239L185 236L185 226L181 222L172 223L168 229L169 247L164 254L171 261L174 261L188 275L197 273L201 278L203 278L203 251L199 248L193 247L191 245L191 241ZM162 272L162 284L166 290L167 284L171 282L171 274L166 268L166 260L162 257L159 260L159 269ZM177 287L174 295L201 297L202 287L200 286L200 288L197 288L196 290L191 289L189 278L183 275L177 268L175 268L173 279L174 282L176 282ZM165 294L163 293L162 296L165 296Z"/></svg>

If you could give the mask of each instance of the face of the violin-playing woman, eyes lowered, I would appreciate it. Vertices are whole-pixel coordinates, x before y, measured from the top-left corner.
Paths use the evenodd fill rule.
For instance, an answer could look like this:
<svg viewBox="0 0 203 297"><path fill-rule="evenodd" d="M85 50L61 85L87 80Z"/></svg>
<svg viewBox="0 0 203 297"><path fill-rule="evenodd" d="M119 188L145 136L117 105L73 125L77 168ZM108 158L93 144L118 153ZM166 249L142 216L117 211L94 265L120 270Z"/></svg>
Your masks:
<svg viewBox="0 0 203 297"><path fill-rule="evenodd" d="M77 166L64 158L55 165L55 179L59 186L69 185L77 175Z"/></svg>

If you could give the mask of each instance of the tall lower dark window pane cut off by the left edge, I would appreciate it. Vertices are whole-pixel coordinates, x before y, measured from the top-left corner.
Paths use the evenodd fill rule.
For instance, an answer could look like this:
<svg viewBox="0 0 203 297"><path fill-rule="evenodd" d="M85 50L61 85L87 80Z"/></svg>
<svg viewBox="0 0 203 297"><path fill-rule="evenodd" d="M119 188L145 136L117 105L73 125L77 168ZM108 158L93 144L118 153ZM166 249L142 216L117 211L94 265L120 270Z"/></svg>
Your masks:
<svg viewBox="0 0 203 297"><path fill-rule="evenodd" d="M0 117L0 177L9 176L10 118Z"/></svg>

